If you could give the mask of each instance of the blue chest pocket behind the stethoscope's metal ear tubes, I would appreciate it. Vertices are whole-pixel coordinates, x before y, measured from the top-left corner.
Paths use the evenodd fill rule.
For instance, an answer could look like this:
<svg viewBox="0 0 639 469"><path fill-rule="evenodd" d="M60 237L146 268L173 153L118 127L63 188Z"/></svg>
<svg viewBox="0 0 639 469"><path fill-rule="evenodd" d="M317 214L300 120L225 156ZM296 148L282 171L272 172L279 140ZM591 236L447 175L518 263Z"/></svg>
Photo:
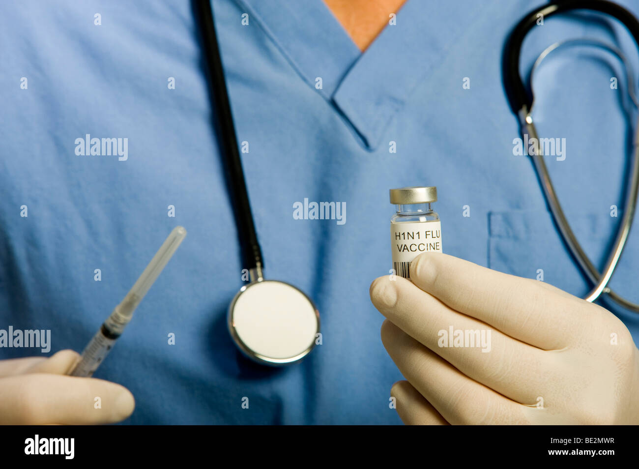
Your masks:
<svg viewBox="0 0 639 469"><path fill-rule="evenodd" d="M569 221L583 250L600 270L612 247L622 214L571 213ZM639 303L639 216L610 286L619 295ZM572 295L584 296L591 284L573 261L569 249L546 210L512 210L488 213L488 266L504 273L536 279L543 273L548 282ZM639 314L606 300L606 309L624 321L635 343L639 343Z"/></svg>

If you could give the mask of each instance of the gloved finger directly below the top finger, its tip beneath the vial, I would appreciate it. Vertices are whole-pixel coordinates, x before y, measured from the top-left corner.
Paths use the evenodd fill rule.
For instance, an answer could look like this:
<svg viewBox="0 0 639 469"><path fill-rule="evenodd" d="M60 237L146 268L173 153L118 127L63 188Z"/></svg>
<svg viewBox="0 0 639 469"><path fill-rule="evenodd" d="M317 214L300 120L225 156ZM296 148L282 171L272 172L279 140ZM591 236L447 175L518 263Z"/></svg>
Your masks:
<svg viewBox="0 0 639 469"><path fill-rule="evenodd" d="M397 327L469 378L520 403L540 395L534 385L552 369L554 358L546 351L450 309L401 277L374 281L371 301Z"/></svg>

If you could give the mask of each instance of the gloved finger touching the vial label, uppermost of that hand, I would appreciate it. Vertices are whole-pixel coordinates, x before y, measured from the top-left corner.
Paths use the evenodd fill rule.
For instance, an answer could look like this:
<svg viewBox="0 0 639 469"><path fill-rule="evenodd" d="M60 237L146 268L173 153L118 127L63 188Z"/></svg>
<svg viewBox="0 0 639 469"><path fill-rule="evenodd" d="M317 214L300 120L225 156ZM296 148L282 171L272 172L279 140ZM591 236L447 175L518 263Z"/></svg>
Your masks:
<svg viewBox="0 0 639 469"><path fill-rule="evenodd" d="M447 254L420 254L411 263L410 278L450 308L544 350L578 340L576 332L588 321L590 310L581 298Z"/></svg>

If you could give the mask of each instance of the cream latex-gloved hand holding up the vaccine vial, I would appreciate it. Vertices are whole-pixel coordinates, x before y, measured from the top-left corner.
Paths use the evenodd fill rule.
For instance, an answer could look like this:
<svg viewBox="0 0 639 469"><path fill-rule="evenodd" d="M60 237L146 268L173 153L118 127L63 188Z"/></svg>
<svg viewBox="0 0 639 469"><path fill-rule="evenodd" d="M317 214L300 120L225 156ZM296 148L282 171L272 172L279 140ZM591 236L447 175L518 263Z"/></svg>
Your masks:
<svg viewBox="0 0 639 469"><path fill-rule="evenodd" d="M410 277L371 285L408 380L391 389L404 423L639 423L639 351L610 311L446 254L421 254ZM491 330L490 351L440 346L450 326Z"/></svg>

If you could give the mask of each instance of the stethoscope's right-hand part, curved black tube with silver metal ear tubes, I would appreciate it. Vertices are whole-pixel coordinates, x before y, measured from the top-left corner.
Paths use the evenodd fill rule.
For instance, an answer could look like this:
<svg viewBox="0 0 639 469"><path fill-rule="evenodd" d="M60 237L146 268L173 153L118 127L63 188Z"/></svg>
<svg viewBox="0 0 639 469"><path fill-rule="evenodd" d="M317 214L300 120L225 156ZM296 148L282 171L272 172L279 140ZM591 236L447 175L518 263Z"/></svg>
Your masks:
<svg viewBox="0 0 639 469"><path fill-rule="evenodd" d="M596 47L606 49L618 56L626 67L629 95L631 96L633 102L635 102L635 105L638 104L634 89L635 82L633 80L632 73L630 72L630 67L627 63L626 58L624 58L621 52L615 47L606 45L605 43L599 42L598 40L569 40L566 42L555 43L551 45L546 50L544 50L539 58L537 58L537 61L535 61L532 72L530 73L530 89L525 86L523 79L521 79L519 71L521 44L523 43L524 38L526 37L530 29L532 29L535 24L537 24L537 20L540 17L546 19L553 15L557 15L558 13L565 13L573 10L593 10L595 12L606 13L612 17L615 17L627 27L628 31L635 39L635 43L639 46L639 22L632 15L632 13L628 12L625 8L622 8L622 6L619 6L618 4L612 3L610 1L558 1L556 3L552 3L533 10L532 12L525 15L525 17L521 19L517 26L514 27L505 45L503 65L504 88L508 96L512 112L514 112L520 120L522 135L527 134L530 139L536 139L535 141L537 142L539 141L537 130L532 120L532 107L534 104L532 78L535 70L537 70L537 68L541 64L541 61L543 61L546 56L551 54L551 52L557 50L559 47L572 46L577 44L594 45ZM610 282L610 279L615 272L615 268L617 268L617 264L619 263L621 253L624 250L624 246L626 245L626 240L628 238L630 227L633 224L633 217L635 215L636 198L639 188L638 143L639 123L635 130L635 141L633 142L633 151L635 155L631 161L632 169L629 172L627 180L627 192L626 199L624 201L624 215L622 217L619 229L617 230L615 243L608 254L606 267L604 268L603 273L599 273L597 268L590 261L587 254L583 251L583 249L581 249L581 245L577 241L576 236L574 236L573 230L571 229L570 224L566 219L566 215L564 215L564 211L561 208L561 204L559 203L555 188L553 188L550 174L548 174L548 169L546 168L546 164L543 159L544 157L542 154L543 152L541 151L541 147L537 146L537 151L534 151L531 155L534 162L535 172L537 173L539 183L543 188L544 197L546 197L546 201L550 206L553 219L555 220L555 223L559 228L560 234L571 250L581 270L585 273L585 275L587 275L587 277L590 279L590 282L592 282L592 284L594 285L594 288L592 288L590 293L584 299L588 302L594 302L603 293L607 293L613 301L617 302L617 304L622 305L623 307L626 307L627 309L635 312L639 312L639 305L629 302L625 298L617 295L617 293L615 293L610 287L608 287L608 282Z"/></svg>

